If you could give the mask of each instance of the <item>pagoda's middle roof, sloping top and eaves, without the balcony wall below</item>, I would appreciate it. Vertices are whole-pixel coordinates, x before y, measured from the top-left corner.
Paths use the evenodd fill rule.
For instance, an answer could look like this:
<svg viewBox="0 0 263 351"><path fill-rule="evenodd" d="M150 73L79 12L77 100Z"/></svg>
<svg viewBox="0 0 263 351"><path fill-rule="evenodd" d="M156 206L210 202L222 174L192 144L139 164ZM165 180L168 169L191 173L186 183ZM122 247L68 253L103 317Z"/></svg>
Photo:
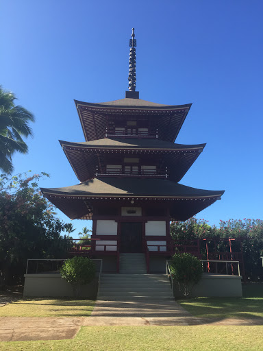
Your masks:
<svg viewBox="0 0 263 351"><path fill-rule="evenodd" d="M184 174L203 151L205 144L182 145L173 144L159 139L110 139L71 143L60 141L68 161L73 167L77 178L84 182L94 178L96 166L99 164L96 154L159 154L164 157L164 167L169 169L169 178L179 182Z"/></svg>

